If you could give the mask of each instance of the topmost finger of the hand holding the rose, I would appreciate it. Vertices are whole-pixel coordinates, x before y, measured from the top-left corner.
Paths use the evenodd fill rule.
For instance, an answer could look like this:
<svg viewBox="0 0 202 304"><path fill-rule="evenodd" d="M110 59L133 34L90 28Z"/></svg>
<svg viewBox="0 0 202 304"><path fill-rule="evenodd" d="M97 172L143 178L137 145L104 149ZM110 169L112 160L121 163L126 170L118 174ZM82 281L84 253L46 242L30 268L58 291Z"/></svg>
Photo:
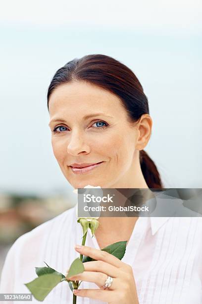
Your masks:
<svg viewBox="0 0 202 304"><path fill-rule="evenodd" d="M75 250L81 254L92 257L94 260L101 260L115 267L121 267L122 262L114 255L89 246L76 245Z"/></svg>

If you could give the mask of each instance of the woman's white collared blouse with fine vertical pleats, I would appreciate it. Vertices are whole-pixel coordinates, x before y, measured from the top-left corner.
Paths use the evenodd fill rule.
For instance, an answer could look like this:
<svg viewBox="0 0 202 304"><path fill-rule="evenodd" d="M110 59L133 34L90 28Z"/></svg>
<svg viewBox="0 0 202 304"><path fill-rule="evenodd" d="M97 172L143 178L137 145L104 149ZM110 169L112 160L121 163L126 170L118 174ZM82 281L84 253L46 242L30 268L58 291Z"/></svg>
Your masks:
<svg viewBox="0 0 202 304"><path fill-rule="evenodd" d="M44 261L65 275L81 239L76 207L20 236L6 256L0 293L30 293L24 283L37 277L35 266L46 266ZM99 248L91 233L86 244ZM202 304L202 218L139 217L122 261L133 267L140 304ZM80 288L98 287L83 282ZM32 303L40 302L33 297ZM71 304L67 282L59 283L44 303ZM77 297L77 304L98 303L103 302Z"/></svg>

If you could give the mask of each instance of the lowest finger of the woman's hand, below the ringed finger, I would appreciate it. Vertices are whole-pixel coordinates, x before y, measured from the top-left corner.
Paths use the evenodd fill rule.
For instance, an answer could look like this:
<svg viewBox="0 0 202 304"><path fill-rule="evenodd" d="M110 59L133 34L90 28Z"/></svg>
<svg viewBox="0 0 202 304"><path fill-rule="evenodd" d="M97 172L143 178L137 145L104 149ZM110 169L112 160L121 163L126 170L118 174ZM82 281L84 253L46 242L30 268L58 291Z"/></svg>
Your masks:
<svg viewBox="0 0 202 304"><path fill-rule="evenodd" d="M117 299L115 291L101 290L101 289L77 289L73 293L79 297L87 297L95 300L101 300L103 302L112 302Z"/></svg>

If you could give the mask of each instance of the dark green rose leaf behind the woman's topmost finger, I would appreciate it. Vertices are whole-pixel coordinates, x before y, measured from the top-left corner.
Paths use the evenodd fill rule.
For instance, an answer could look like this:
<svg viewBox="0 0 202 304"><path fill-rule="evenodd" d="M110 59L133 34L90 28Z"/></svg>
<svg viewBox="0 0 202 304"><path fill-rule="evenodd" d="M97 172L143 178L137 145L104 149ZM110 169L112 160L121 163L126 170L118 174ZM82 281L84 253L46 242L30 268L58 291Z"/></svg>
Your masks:
<svg viewBox="0 0 202 304"><path fill-rule="evenodd" d="M121 260L126 252L126 243L127 241L116 242L101 250L106 251L117 257L119 260ZM91 261L95 261L95 260L92 259L90 256L85 256L85 255L83 256L83 260L82 260L83 263L91 262Z"/></svg>

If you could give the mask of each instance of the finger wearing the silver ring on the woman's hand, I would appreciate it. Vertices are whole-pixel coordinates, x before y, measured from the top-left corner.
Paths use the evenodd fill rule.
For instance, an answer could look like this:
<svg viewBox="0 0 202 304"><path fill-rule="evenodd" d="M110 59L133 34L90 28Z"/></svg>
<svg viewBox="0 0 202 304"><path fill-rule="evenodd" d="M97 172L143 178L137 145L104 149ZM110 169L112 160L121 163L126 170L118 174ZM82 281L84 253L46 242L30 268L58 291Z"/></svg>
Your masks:
<svg viewBox="0 0 202 304"><path fill-rule="evenodd" d="M107 279L107 275L102 272L93 272L93 271L84 271L78 275L72 276L68 278L72 281L85 281L85 282L92 282L95 283L98 287L102 288L105 284ZM113 279L113 282L110 286L110 290L116 289L117 286L117 279Z"/></svg>

